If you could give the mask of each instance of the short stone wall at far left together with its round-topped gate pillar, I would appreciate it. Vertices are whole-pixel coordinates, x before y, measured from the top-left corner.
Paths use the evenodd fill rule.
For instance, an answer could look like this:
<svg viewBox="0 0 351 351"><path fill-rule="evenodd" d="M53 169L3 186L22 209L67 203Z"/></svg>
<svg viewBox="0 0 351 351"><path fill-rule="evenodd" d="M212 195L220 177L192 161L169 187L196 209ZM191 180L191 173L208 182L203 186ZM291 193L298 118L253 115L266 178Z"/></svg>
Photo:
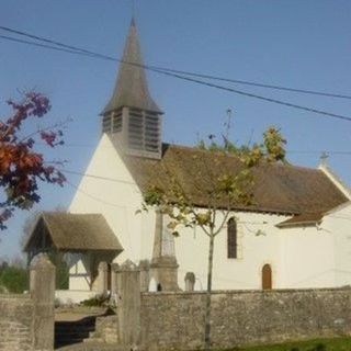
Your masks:
<svg viewBox="0 0 351 351"><path fill-rule="evenodd" d="M30 276L30 294L0 295L0 351L54 350L55 267L42 256Z"/></svg>

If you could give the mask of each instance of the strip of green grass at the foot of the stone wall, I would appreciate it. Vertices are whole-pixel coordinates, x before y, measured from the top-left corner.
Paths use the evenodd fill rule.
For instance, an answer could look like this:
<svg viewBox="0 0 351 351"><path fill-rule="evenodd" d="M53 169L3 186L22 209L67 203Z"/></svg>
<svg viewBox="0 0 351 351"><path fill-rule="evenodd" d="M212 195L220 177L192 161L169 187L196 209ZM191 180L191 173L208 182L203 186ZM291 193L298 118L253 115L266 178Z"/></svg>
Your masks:
<svg viewBox="0 0 351 351"><path fill-rule="evenodd" d="M351 337L239 348L233 351L351 351Z"/></svg>

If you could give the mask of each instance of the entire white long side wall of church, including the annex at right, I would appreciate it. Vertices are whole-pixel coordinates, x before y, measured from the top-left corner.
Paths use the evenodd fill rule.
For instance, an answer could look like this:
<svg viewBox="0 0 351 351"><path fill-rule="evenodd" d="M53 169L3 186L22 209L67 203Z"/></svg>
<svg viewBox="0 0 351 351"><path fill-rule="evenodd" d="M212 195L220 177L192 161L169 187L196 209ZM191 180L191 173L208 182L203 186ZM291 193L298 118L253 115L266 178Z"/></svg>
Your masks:
<svg viewBox="0 0 351 351"><path fill-rule="evenodd" d="M227 258L227 233L224 228L215 239L214 288L261 288L264 264L271 265L273 288L347 284L340 276L346 267L350 268L351 273L351 263L346 264L348 259L351 262L351 234L336 239L333 233L338 231L339 222L335 223L336 227L330 233L301 226L280 229L275 225L287 217L278 215L237 213L236 217L238 258ZM196 276L196 290L206 288L208 238L201 228L183 230L176 238L176 250L179 252L180 287L184 287L185 273L192 271ZM338 254L343 253L337 259L335 250ZM339 274L336 274L338 271Z"/></svg>

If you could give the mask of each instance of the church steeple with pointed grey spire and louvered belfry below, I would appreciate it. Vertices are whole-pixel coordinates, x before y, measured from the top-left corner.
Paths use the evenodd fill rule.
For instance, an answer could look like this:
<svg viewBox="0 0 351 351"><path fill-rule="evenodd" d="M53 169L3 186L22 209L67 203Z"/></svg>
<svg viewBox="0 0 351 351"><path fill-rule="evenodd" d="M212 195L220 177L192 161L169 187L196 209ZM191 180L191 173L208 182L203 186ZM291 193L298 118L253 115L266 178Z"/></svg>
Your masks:
<svg viewBox="0 0 351 351"><path fill-rule="evenodd" d="M161 110L152 100L143 67L135 21L132 20L118 77L103 110L102 132L127 155L161 157Z"/></svg>

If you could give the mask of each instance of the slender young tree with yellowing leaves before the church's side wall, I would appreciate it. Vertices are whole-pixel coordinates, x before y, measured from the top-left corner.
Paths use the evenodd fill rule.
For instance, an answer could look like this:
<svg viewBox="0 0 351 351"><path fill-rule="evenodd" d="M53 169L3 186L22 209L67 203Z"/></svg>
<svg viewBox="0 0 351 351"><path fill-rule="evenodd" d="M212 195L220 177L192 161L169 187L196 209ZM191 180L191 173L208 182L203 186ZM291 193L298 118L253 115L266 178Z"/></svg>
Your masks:
<svg viewBox="0 0 351 351"><path fill-rule="evenodd" d="M252 185L254 178L252 170L261 162L285 161L285 140L274 127L270 127L263 134L263 143L252 147L238 147L227 139L224 145L218 145L214 138L210 138L210 145L201 141L199 147L204 152L213 152L213 157L194 157L192 170L186 174L192 182L192 189L202 194L204 204L199 207L192 194L188 193L182 181L177 178L174 170L168 169L169 184L167 189L150 182L144 194L143 208L158 207L161 213L168 215L170 222L168 228L178 236L177 228L201 227L208 237L207 257L207 290L205 308L205 349L211 348L211 293L214 241L226 225L229 215L236 207L245 207L254 203ZM236 172L230 167L231 161L238 161L240 166ZM194 171L195 170L195 171ZM191 171L194 171L191 173ZM224 205L225 204L225 205Z"/></svg>

